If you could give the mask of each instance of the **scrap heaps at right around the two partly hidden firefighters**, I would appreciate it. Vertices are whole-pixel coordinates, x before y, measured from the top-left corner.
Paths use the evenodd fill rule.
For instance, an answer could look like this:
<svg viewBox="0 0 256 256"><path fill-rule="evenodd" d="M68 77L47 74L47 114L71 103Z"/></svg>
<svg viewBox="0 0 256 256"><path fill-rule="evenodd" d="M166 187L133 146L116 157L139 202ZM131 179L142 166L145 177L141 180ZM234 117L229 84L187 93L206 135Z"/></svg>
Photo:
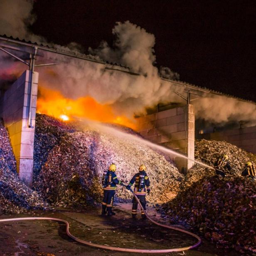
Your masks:
<svg viewBox="0 0 256 256"><path fill-rule="evenodd" d="M256 155L225 141L199 140L195 158L207 165L229 156L231 172L225 178L199 165L188 170L182 189L163 207L172 222L183 222L222 248L256 252L256 181L241 177L247 161Z"/></svg>

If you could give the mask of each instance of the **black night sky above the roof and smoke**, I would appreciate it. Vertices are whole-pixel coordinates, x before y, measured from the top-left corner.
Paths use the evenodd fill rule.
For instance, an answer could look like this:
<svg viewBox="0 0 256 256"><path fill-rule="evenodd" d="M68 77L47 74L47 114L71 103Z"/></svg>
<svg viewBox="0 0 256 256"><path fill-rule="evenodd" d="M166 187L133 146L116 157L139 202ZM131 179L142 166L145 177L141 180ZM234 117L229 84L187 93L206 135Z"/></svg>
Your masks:
<svg viewBox="0 0 256 256"><path fill-rule="evenodd" d="M156 38L157 66L180 80L256 101L255 0L38 0L32 26L57 44L88 49L113 42L115 22L130 22Z"/></svg>

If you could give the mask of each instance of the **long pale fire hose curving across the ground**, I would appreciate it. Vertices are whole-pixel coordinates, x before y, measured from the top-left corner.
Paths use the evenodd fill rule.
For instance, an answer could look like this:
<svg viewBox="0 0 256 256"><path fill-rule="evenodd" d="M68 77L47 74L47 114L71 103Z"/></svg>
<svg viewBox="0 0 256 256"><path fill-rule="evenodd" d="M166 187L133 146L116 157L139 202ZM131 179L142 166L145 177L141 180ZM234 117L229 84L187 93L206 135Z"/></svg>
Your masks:
<svg viewBox="0 0 256 256"><path fill-rule="evenodd" d="M146 213L146 211L143 209L138 197L136 197L135 193L130 189L130 192L133 193L133 196L135 197L135 199L137 200L138 204L140 205L140 208L143 210L143 212L145 213L146 217L150 220L150 222L153 222L154 224L158 225L158 226L162 226L165 227L167 229L174 229L180 232L183 232L185 234L189 234L190 236L195 237L198 241L196 244L192 245L192 246L187 246L187 247L181 247L181 248L173 248L173 249L156 249L156 250L149 250L149 249L130 249L130 248L121 248L121 247L113 247L113 246L106 246L106 245L101 245L101 244L94 244L85 240L81 240L75 236L73 236L70 232L69 232L69 222L67 222L64 219L57 219L57 218L48 218L48 217L25 217L25 218L13 218L13 219L0 219L0 222L14 222L14 221L20 221L20 220L52 220L52 221L57 221L57 222L63 222L66 224L66 234L73 240L81 243L81 244L86 244L88 246L92 246L92 247L96 247L96 248L100 248L100 249L105 249L105 250L111 250L111 251L125 251L125 252L137 252L137 253L169 253L169 252L175 252L175 251L185 251L185 250L189 250L189 249L193 249L197 246L199 246L199 244L201 243L201 239L199 236L197 236L196 234L193 234L189 231L186 231L184 229L180 229L177 228L175 226L168 226L165 224L160 224L158 222L156 222L155 220L151 219L148 214Z"/></svg>

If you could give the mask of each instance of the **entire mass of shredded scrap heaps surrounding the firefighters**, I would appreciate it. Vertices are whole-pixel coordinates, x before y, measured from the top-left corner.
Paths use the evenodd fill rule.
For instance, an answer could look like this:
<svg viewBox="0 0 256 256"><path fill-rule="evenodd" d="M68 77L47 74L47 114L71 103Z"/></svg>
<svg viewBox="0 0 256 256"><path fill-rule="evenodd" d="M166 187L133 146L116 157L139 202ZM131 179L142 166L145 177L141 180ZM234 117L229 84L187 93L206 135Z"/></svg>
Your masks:
<svg viewBox="0 0 256 256"><path fill-rule="evenodd" d="M141 137L130 128L109 126ZM101 177L112 162L125 184L144 163L151 182L147 199L164 202L163 210L172 223L187 225L219 247L241 253L256 251L255 181L240 176L247 161L256 162L256 155L234 145L214 140L195 143L195 158L207 165L214 166L222 154L229 155L229 176L217 177L214 170L199 165L183 176L167 155L143 143L37 114L30 189L17 175L10 138L2 122L0 141L1 214L101 202ZM131 201L124 187L118 186L116 196L116 201Z"/></svg>

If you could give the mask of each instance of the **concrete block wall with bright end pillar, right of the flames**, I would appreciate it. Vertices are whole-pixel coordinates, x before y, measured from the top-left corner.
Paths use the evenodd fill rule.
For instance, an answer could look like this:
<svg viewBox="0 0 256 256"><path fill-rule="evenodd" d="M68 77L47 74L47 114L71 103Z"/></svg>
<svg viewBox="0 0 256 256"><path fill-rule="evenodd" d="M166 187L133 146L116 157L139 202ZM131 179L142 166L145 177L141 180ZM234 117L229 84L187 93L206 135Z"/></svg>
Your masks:
<svg viewBox="0 0 256 256"><path fill-rule="evenodd" d="M194 159L194 108L193 105L172 108L138 118L138 130L143 137L177 150ZM193 161L175 157L181 170L189 169Z"/></svg>

